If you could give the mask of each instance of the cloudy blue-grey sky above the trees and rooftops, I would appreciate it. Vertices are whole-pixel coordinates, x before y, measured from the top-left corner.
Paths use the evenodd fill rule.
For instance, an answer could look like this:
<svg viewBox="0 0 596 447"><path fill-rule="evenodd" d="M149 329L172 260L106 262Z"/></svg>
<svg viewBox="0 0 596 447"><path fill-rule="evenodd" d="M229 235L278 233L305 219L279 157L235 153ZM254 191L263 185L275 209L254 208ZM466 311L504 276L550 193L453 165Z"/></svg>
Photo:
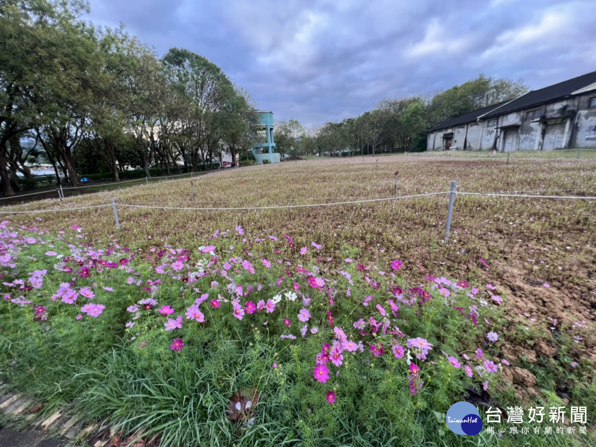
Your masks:
<svg viewBox="0 0 596 447"><path fill-rule="evenodd" d="M309 127L474 79L538 89L596 70L596 1L89 0L163 55L187 48Z"/></svg>

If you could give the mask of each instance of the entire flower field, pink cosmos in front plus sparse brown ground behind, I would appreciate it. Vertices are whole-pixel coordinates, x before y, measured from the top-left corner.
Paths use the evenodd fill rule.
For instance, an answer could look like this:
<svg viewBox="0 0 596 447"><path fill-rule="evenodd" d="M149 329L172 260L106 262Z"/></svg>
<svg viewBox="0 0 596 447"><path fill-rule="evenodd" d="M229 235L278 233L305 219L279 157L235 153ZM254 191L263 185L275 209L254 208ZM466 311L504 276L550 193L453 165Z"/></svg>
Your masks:
<svg viewBox="0 0 596 447"><path fill-rule="evenodd" d="M505 195L457 194L445 244L423 194L451 181ZM0 378L160 445L585 445L596 200L512 196L595 185L591 159L367 157L4 207L63 211L4 215ZM462 437L465 400L567 423Z"/></svg>

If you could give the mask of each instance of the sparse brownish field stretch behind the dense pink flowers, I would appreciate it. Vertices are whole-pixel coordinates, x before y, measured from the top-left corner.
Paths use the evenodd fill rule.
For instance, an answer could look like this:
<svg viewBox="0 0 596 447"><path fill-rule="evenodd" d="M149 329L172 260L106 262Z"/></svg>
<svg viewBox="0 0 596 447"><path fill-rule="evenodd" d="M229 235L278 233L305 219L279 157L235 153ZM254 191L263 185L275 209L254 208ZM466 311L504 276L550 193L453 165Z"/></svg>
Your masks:
<svg viewBox="0 0 596 447"><path fill-rule="evenodd" d="M393 199L395 171L398 197L445 194ZM296 252L316 241L325 256L331 253L324 259L330 269L347 256L366 260L371 268L380 256L399 257L414 281L451 275L489 283L510 305L504 331L511 343L508 356L530 363L556 355L549 343L553 319L594 328L596 200L456 194L446 245L451 181L457 182L458 193L594 197L596 159L526 156L512 157L508 164L504 157L447 154L320 159L204 175L194 179L195 197L190 180L181 179L1 210L13 225L49 231L78 225L97 240L116 238L143 251L164 241L172 247L200 246L215 231L241 225L256 238L288 234ZM112 198L119 231L107 206ZM371 199L378 200L362 201ZM355 201L360 202L345 203ZM221 210L237 207L272 208ZM544 338L517 344L522 328ZM596 361L596 337L589 333L581 343Z"/></svg>

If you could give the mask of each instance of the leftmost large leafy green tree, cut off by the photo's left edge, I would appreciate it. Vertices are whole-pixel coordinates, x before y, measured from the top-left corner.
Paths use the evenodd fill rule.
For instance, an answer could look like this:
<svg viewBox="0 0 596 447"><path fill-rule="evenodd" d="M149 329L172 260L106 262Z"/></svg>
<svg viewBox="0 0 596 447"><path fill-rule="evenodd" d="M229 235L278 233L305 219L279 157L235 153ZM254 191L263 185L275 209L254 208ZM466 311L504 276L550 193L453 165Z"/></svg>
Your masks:
<svg viewBox="0 0 596 447"><path fill-rule="evenodd" d="M86 64L92 66L88 58L92 33L79 21L86 11L86 3L76 0L0 2L0 184L4 195L14 194L7 164L17 157L20 145L15 138L64 113L64 100L71 89L78 93L89 68Z"/></svg>

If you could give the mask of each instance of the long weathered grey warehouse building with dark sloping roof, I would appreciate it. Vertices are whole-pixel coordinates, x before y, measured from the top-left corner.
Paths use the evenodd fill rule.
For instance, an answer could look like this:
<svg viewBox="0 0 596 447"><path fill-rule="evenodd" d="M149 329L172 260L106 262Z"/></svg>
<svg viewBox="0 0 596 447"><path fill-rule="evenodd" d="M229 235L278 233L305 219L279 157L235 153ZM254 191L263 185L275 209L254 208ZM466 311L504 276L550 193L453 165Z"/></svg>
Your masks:
<svg viewBox="0 0 596 447"><path fill-rule="evenodd" d="M427 129L427 150L596 148L596 72L449 118Z"/></svg>

